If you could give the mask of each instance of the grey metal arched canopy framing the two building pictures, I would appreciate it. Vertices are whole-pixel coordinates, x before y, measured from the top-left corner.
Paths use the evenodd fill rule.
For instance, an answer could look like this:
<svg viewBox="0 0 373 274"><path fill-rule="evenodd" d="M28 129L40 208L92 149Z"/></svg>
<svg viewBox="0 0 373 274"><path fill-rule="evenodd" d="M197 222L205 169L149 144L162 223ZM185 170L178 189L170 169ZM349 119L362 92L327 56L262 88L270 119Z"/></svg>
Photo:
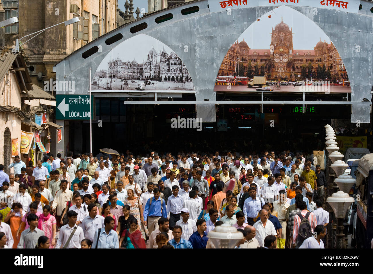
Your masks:
<svg viewBox="0 0 373 274"><path fill-rule="evenodd" d="M232 9L228 13L210 12L208 4L207 0L193 1L152 13L120 26L57 63L54 66L57 81L59 79L75 81L75 90L79 90L79 94L88 94L90 67L95 71L106 55L121 42L137 34L146 34L166 44L185 63L195 86L196 102L191 103L197 105L197 117L206 122L215 121L216 92L213 91L215 79L232 41L235 41L258 18L278 6ZM351 102L346 102L351 104L351 122L369 123L371 103L362 101L364 98L369 100L371 98L373 22L370 9L373 4L371 1L361 0L360 5L362 8L358 13L312 6L289 7L311 19L332 40L344 61L351 82ZM198 6L198 12L182 14L182 10L194 6ZM171 20L155 23L157 17L167 13L173 14ZM147 25L146 28L131 33L131 28L144 23ZM117 34L122 34L123 37L107 45L106 40ZM84 59L82 54L89 53L90 49L97 52L85 56ZM65 93L73 92L57 92L57 94ZM113 93L110 96L122 97L120 93ZM204 101L205 99L209 99L212 104ZM272 103L276 104L276 101Z"/></svg>

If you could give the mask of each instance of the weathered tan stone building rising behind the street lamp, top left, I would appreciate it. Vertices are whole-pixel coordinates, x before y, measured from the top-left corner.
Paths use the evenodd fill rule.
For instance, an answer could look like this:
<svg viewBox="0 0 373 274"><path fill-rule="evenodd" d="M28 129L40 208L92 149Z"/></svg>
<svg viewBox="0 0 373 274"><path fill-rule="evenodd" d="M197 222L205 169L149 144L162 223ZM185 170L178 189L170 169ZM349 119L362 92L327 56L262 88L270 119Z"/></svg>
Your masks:
<svg viewBox="0 0 373 274"><path fill-rule="evenodd" d="M16 38L37 32L78 16L80 21L69 26L47 29L22 45L27 68L34 84L43 86L55 78L52 66L73 51L116 28L116 0L2 0L5 19L18 16L19 23L5 29L7 47Z"/></svg>

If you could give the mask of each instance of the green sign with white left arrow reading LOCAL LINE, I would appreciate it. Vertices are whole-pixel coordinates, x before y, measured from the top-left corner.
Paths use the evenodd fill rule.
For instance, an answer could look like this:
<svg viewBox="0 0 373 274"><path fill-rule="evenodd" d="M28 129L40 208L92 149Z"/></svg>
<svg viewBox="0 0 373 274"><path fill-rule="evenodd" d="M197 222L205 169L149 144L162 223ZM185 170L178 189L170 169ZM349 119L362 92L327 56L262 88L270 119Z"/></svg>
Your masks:
<svg viewBox="0 0 373 274"><path fill-rule="evenodd" d="M94 100L92 98L92 118L94 119ZM56 120L89 120L90 95L56 95Z"/></svg>

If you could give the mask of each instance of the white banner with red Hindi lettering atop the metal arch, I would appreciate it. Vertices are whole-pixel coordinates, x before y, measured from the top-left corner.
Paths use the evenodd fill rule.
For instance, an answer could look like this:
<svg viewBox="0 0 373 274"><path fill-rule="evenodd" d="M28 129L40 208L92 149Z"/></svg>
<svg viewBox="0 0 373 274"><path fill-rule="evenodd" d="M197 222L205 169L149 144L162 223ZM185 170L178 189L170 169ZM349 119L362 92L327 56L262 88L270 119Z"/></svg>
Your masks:
<svg viewBox="0 0 373 274"><path fill-rule="evenodd" d="M360 0L209 0L210 12L258 6L307 6L358 13Z"/></svg>

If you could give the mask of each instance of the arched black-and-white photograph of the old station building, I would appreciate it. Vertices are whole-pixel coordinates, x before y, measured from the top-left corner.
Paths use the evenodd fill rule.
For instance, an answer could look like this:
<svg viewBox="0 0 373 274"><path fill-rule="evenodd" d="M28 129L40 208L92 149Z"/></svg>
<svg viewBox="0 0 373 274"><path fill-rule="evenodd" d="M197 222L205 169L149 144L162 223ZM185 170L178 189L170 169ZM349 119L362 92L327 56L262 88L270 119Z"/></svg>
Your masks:
<svg viewBox="0 0 373 274"><path fill-rule="evenodd" d="M169 47L144 34L131 40L122 45L126 50L116 48L101 62L94 89L133 90L144 84L150 90L194 90L184 62Z"/></svg>

